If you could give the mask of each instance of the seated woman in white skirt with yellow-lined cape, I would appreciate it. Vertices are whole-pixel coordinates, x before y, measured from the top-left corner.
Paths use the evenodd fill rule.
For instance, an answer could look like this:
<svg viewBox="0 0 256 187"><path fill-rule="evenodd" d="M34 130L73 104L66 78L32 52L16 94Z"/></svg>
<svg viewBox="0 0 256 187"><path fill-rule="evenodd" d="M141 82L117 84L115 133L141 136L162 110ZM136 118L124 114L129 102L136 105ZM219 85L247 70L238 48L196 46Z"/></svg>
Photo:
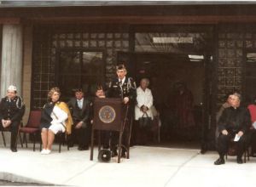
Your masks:
<svg viewBox="0 0 256 187"><path fill-rule="evenodd" d="M55 134L67 131L71 133L73 120L66 103L59 101L61 92L59 88L49 90L49 102L44 105L41 116L41 138L43 150L41 154L47 155L51 151L51 146L55 139Z"/></svg>

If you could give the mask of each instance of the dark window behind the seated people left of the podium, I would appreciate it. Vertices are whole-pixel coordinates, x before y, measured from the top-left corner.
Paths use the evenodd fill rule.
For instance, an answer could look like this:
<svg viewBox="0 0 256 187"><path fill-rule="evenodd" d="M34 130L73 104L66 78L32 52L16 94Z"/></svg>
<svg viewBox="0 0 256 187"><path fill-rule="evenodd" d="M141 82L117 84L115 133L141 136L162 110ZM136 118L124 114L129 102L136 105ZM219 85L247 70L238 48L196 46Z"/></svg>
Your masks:
<svg viewBox="0 0 256 187"><path fill-rule="evenodd" d="M94 95L96 85L104 82L104 67L102 51L61 50L55 77L61 98L68 100L75 88L82 88L88 96Z"/></svg>

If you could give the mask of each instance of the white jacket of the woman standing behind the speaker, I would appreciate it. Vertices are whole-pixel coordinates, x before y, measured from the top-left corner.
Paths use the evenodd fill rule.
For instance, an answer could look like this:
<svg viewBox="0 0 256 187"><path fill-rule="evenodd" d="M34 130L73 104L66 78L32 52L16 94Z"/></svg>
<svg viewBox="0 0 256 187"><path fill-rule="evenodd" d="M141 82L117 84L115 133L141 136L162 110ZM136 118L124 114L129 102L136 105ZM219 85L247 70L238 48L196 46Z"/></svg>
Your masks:
<svg viewBox="0 0 256 187"><path fill-rule="evenodd" d="M149 117L153 119L151 106L153 105L153 95L151 90L146 88L145 91L141 87L137 88L137 105L135 106L135 120L138 120L140 117L143 116L143 111L141 111L141 107L143 105L148 107L147 114Z"/></svg>

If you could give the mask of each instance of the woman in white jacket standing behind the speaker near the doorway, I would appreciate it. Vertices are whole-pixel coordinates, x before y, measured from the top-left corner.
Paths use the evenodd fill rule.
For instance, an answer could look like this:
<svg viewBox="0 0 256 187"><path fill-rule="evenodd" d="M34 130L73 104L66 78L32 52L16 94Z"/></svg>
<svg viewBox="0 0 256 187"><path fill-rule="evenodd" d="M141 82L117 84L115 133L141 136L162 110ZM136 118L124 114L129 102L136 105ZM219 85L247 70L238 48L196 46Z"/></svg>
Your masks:
<svg viewBox="0 0 256 187"><path fill-rule="evenodd" d="M151 90L148 89L149 81L147 78L143 78L140 82L140 86L137 88L137 105L135 106L135 120L136 125L136 142L137 144L146 144L148 141L148 127L140 127L138 122L141 117L151 117L153 120L153 114L151 106L153 105L153 96Z"/></svg>

